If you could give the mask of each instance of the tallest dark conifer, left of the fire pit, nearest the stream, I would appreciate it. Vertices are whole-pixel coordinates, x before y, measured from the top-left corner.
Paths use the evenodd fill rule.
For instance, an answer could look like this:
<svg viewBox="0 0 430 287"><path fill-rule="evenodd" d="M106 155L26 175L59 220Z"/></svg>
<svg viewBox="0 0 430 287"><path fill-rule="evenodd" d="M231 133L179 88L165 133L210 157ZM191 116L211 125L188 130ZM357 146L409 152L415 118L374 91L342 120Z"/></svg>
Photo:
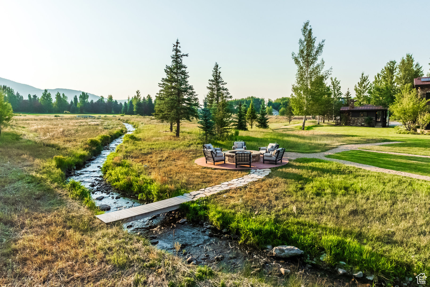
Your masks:
<svg viewBox="0 0 430 287"><path fill-rule="evenodd" d="M183 54L180 50L179 40L173 44L173 54L171 65L166 65L164 72L166 77L161 79L160 91L156 98L155 117L160 121L176 123L176 136L179 137L181 120L192 120L198 117L197 99L194 87L188 83L187 66L183 58L188 54Z"/></svg>

